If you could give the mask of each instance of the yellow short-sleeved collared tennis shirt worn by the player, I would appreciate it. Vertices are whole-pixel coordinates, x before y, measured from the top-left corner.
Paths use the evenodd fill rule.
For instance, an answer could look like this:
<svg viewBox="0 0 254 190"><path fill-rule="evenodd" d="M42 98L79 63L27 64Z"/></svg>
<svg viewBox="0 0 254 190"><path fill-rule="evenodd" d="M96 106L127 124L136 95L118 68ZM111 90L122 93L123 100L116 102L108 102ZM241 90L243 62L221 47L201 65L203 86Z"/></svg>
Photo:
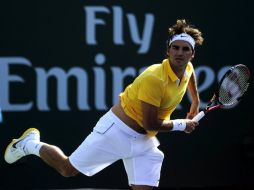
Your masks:
<svg viewBox="0 0 254 190"><path fill-rule="evenodd" d="M151 65L120 94L121 106L141 127L141 101L159 108L158 119L169 120L186 92L192 72L193 66L189 62L184 77L179 82L168 59L164 59L160 64ZM156 134L156 131L148 131L149 136Z"/></svg>

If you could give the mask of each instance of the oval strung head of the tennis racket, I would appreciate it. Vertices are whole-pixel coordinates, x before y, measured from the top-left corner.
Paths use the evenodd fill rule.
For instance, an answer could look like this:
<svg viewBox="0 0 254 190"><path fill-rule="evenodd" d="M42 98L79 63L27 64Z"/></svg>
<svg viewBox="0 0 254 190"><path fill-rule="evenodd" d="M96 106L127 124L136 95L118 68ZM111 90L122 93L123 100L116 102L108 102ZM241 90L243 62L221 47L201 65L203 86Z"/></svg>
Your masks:
<svg viewBox="0 0 254 190"><path fill-rule="evenodd" d="M224 78L219 89L219 101L226 106L236 104L248 88L249 70L238 66Z"/></svg>

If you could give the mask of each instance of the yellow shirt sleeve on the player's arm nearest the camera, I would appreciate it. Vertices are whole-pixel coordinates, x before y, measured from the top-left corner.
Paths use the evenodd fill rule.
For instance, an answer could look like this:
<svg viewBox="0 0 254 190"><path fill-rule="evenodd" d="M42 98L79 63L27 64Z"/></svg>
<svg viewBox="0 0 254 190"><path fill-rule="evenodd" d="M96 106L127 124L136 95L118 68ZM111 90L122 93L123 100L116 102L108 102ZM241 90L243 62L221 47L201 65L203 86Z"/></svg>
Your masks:
<svg viewBox="0 0 254 190"><path fill-rule="evenodd" d="M147 75L140 83L138 90L138 99L159 107L163 93L163 81L156 76Z"/></svg>

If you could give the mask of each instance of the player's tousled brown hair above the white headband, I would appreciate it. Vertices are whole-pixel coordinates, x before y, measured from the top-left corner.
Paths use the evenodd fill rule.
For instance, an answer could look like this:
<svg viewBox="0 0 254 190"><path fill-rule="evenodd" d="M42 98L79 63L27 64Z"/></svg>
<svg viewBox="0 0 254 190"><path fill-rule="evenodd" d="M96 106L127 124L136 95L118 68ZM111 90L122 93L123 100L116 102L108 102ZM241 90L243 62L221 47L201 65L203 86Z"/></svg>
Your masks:
<svg viewBox="0 0 254 190"><path fill-rule="evenodd" d="M176 21L176 24L174 24L168 29L169 36L167 42L169 42L174 35L181 33L189 34L195 40L195 46L201 46L204 41L204 38L202 37L202 32L199 29L187 23L185 19L178 19Z"/></svg>

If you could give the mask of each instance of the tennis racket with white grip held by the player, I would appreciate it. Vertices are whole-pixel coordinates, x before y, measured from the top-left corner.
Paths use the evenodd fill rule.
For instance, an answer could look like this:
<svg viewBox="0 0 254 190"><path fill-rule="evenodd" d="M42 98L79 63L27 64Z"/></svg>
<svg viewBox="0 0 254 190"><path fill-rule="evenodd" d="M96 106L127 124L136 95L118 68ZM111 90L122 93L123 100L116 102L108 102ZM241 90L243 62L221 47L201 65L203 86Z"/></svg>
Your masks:
<svg viewBox="0 0 254 190"><path fill-rule="evenodd" d="M231 67L222 77L215 93L205 110L199 112L192 120L199 121L208 112L219 108L233 108L246 93L250 80L247 66L239 64Z"/></svg>

